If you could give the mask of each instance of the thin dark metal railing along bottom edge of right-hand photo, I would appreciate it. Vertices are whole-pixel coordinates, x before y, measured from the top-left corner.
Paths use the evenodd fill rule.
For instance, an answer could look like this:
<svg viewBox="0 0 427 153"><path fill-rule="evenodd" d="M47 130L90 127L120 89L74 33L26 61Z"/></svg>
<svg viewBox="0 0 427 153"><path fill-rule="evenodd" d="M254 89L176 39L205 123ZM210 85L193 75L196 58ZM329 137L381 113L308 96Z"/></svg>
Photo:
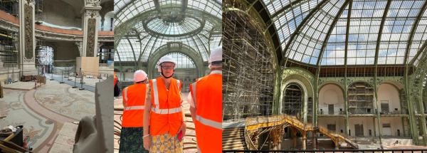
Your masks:
<svg viewBox="0 0 427 153"><path fill-rule="evenodd" d="M300 152L361 152L361 153L426 153L427 149L334 149L334 150L223 150L223 153L251 152L251 153L300 153Z"/></svg>

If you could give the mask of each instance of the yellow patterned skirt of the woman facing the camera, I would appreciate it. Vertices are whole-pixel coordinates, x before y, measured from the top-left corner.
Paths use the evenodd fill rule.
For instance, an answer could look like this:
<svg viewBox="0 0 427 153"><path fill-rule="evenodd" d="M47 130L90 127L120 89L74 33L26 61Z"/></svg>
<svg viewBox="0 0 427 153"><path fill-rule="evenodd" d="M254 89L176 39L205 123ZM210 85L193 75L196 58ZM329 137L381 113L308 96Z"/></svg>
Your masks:
<svg viewBox="0 0 427 153"><path fill-rule="evenodd" d="M150 153L181 153L182 142L178 140L178 134L171 136L169 132L151 137Z"/></svg>

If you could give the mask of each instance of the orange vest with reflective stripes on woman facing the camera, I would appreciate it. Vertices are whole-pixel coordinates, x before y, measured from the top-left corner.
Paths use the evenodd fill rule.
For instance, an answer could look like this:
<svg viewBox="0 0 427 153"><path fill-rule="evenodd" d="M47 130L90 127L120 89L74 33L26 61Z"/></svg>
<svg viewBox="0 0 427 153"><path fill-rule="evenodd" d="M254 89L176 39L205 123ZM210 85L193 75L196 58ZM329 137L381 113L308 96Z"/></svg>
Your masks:
<svg viewBox="0 0 427 153"><path fill-rule="evenodd" d="M182 124L181 81L172 78L169 92L162 78L149 80L152 95L149 134L156 136L169 132L176 135Z"/></svg>

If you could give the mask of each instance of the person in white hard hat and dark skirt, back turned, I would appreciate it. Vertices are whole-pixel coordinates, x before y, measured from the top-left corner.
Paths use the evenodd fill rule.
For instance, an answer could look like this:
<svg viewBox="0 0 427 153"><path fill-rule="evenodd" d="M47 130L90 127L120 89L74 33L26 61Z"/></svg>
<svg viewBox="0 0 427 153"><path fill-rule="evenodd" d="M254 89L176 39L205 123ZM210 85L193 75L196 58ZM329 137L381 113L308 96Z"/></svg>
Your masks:
<svg viewBox="0 0 427 153"><path fill-rule="evenodd" d="M137 70L134 73L134 85L123 90L123 116L122 116L122 133L120 134L119 152L144 152L143 139L144 134L143 115L144 103L146 101L147 90L147 73L143 70ZM141 94L143 93L143 94Z"/></svg>

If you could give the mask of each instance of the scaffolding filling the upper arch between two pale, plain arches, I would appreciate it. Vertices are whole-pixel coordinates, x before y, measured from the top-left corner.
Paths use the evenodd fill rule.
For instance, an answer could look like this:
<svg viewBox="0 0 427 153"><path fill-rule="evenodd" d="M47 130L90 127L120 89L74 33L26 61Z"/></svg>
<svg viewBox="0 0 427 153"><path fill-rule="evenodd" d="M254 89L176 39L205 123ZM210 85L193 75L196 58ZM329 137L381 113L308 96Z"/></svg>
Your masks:
<svg viewBox="0 0 427 153"><path fill-rule="evenodd" d="M353 83L348 91L349 114L374 114L374 89L365 82Z"/></svg>

